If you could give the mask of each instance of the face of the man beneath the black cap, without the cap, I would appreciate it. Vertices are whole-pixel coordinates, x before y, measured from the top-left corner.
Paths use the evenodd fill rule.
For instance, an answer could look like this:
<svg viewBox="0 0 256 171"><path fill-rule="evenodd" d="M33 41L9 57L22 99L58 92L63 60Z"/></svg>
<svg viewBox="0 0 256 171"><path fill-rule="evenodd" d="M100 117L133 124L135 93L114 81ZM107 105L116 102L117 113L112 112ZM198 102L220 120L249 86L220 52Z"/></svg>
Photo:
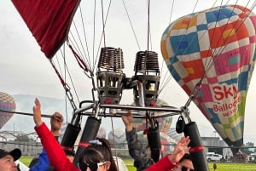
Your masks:
<svg viewBox="0 0 256 171"><path fill-rule="evenodd" d="M0 170L4 171L18 171L18 168L15 164L14 157L7 155L0 159Z"/></svg>

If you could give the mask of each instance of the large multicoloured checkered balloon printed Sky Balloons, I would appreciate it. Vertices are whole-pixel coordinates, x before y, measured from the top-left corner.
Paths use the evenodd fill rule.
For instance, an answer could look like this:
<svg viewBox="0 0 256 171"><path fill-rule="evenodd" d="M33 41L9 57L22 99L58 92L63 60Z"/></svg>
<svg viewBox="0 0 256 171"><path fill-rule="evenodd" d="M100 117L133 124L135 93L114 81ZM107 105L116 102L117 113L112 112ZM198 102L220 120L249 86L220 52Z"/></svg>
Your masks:
<svg viewBox="0 0 256 171"><path fill-rule="evenodd" d="M230 146L243 144L247 88L256 58L255 30L252 11L226 5L175 20L161 40L172 77L189 95L199 88L195 104Z"/></svg>

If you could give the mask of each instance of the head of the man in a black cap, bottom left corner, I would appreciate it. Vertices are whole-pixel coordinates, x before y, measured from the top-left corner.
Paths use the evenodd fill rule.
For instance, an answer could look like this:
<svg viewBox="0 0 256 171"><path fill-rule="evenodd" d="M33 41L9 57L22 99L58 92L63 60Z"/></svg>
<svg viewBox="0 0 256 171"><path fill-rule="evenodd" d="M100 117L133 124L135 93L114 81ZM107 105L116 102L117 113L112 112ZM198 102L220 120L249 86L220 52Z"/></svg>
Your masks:
<svg viewBox="0 0 256 171"><path fill-rule="evenodd" d="M20 149L13 151L4 151L0 149L0 170L18 171L15 161L21 157Z"/></svg>

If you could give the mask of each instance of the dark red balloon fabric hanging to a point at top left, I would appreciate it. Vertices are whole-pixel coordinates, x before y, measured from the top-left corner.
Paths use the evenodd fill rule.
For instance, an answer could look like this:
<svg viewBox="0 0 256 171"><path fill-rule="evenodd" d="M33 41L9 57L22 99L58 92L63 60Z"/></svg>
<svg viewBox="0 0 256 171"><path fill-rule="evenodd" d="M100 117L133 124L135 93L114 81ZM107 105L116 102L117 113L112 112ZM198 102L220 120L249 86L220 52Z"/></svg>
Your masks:
<svg viewBox="0 0 256 171"><path fill-rule="evenodd" d="M12 0L45 56L51 59L65 42L80 0Z"/></svg>

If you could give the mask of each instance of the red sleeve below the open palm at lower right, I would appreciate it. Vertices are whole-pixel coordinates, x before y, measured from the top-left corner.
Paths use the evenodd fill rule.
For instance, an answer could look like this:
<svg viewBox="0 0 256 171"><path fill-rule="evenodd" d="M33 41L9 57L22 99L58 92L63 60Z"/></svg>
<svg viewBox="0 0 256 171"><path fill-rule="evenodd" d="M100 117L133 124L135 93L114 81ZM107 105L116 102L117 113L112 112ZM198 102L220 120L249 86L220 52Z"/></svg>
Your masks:
<svg viewBox="0 0 256 171"><path fill-rule="evenodd" d="M155 162L153 165L151 165L149 168L146 169L146 171L170 171L172 168L177 166L177 164L173 164L169 160L169 155L166 155L166 157L161 158L158 162Z"/></svg>

